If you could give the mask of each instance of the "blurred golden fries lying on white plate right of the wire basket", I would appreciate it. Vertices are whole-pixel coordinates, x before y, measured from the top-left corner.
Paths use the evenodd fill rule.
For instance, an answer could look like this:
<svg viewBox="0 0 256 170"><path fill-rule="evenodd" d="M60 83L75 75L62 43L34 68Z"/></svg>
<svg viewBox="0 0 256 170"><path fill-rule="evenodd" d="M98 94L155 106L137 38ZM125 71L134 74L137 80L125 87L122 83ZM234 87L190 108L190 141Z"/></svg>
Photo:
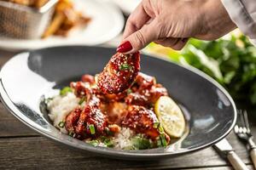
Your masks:
<svg viewBox="0 0 256 170"><path fill-rule="evenodd" d="M43 38L51 35L66 37L68 32L75 26L86 26L90 18L78 12L70 0L60 0L55 8L54 17L44 32Z"/></svg>

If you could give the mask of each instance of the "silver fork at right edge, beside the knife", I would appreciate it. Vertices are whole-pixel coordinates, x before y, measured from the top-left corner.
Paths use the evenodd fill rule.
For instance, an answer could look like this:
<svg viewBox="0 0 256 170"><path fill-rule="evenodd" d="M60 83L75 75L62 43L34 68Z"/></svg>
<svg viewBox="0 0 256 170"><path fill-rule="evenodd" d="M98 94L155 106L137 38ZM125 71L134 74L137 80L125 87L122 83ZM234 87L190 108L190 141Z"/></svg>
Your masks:
<svg viewBox="0 0 256 170"><path fill-rule="evenodd" d="M253 165L256 168L256 144L253 142L253 135L249 127L247 111L237 111L237 121L234 131L239 139L247 143Z"/></svg>

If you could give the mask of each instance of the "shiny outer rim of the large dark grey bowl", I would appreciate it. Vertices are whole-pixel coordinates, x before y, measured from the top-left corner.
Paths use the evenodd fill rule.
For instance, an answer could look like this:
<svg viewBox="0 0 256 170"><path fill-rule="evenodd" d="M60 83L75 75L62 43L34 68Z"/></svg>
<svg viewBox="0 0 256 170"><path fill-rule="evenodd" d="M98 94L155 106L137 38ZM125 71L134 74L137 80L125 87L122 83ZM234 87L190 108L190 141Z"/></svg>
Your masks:
<svg viewBox="0 0 256 170"><path fill-rule="evenodd" d="M25 54L25 53L32 53L33 51L38 51L38 50L44 50L44 49L51 49L51 48L73 48L74 46L56 46L56 47L49 47L49 48L39 48L39 49L35 49L35 50L29 50L28 52L22 52L19 54L15 54L11 59L19 56L20 54ZM99 46L75 46L78 48L105 48L105 49L111 49L113 50L113 48L108 48L108 47L99 47ZM145 53L143 53L145 54ZM236 104L234 102L234 100L231 98L230 94L227 92L226 89L224 89L224 87L222 87L218 82L216 82L212 77L209 77L206 73L196 69L195 67L192 67L190 65L179 65L177 63L172 62L170 59L166 59L162 56L157 56L157 55L152 55L152 54L145 54L147 55L147 57L151 57L154 59L162 59L165 60L168 63L171 63L172 65L177 65L179 67L182 67L185 70L191 71L193 73L195 73L196 75L205 78L208 82L211 82L214 86L216 86L222 93L224 93L224 95L230 100L230 104L233 108L234 111L234 119L232 120L232 123L229 127L229 129L224 132L220 137L218 137L218 139L212 140L211 142L209 142L208 144L202 144L199 146L196 146L193 149L189 149L189 150L180 150L178 152L163 152L163 153L136 153L136 152L127 152L124 150L113 150L111 148L103 148L103 147L95 147L95 146L91 146L90 144L85 144L86 147L85 148L81 148L75 144L72 143L67 143L61 139L56 138L53 135L50 135L50 133L46 133L44 131L41 131L38 127L34 127L32 126L31 123L26 122L26 120L22 119L22 117L20 117L20 115L22 116L23 113L22 111L18 110L16 108L16 106L14 105L14 103L11 101L11 99L9 99L9 95L7 94L7 92L5 91L5 88L3 87L3 81L2 81L2 69L0 71L0 99L4 105L5 108L8 109L8 111L14 115L16 118L18 118L20 120L20 122L23 122L24 124L26 124L27 127L31 127L33 130L35 130L36 132L43 134L45 137L49 138L49 139L53 139L57 142L60 142L61 144L66 144L68 146L71 146L73 148L76 148L78 150L88 150L90 152L96 153L96 154L103 154L104 156L123 156L123 157L117 157L117 159L134 159L134 158L145 158L145 159L150 159L150 158L156 158L156 157L163 157L163 156L180 156L180 155L184 155L184 154L189 154L192 152L195 152L197 150L202 150L205 149L209 146L212 146L213 144L218 143L218 141L220 141L221 139L224 139L233 129L233 127L236 124L236 118L237 118L237 111L236 111ZM7 65L10 60L9 59L4 65ZM2 67L2 68L3 68ZM27 117L26 117L27 118ZM28 118L27 118L28 119ZM29 120L29 119L28 119ZM32 121L31 121L32 122Z"/></svg>

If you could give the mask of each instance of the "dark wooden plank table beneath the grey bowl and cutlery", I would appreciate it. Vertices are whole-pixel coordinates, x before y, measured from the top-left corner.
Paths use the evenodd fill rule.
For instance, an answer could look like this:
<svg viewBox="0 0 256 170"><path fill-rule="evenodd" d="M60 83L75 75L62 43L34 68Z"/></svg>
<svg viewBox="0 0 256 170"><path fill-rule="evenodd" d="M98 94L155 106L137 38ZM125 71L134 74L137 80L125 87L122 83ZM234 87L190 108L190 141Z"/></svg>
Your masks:
<svg viewBox="0 0 256 170"><path fill-rule="evenodd" d="M0 66L13 54L0 50ZM10 75L15 78L15 75ZM252 120L252 119L251 119ZM252 122L254 136L256 123ZM253 169L244 144L232 132L227 138L238 156ZM232 169L212 147L160 161L120 161L80 153L36 133L0 103L0 169Z"/></svg>

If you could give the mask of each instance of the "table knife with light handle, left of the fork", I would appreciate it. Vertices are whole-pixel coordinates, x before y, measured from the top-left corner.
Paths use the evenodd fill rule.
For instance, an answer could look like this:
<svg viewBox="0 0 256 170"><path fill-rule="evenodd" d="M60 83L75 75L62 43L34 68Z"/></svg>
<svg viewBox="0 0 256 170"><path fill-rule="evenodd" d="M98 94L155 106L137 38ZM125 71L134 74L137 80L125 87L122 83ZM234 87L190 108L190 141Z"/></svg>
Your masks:
<svg viewBox="0 0 256 170"><path fill-rule="evenodd" d="M220 156L226 157L230 161L235 170L248 170L244 162L241 161L241 158L236 155L227 139L222 139L217 144L214 144L213 147L218 150Z"/></svg>

